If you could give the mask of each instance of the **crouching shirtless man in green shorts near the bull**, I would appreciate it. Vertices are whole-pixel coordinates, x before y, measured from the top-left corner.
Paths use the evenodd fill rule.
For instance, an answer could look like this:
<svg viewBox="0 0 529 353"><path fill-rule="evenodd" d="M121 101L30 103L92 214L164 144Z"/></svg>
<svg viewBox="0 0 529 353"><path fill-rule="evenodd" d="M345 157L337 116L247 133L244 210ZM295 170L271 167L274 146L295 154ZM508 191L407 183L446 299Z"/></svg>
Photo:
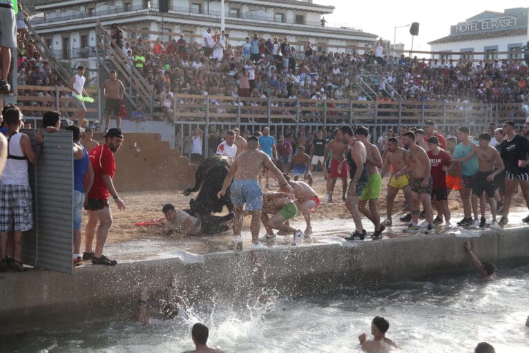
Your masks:
<svg viewBox="0 0 529 353"><path fill-rule="evenodd" d="M278 229L278 231L283 233L291 233L294 236L292 244L296 245L305 234L286 223L287 220L294 218L296 213L298 213L296 204L290 198L294 198L292 193L276 193L273 191L262 193L261 222L264 228L267 229L266 238L275 238L273 229ZM269 217L269 213L273 216Z"/></svg>

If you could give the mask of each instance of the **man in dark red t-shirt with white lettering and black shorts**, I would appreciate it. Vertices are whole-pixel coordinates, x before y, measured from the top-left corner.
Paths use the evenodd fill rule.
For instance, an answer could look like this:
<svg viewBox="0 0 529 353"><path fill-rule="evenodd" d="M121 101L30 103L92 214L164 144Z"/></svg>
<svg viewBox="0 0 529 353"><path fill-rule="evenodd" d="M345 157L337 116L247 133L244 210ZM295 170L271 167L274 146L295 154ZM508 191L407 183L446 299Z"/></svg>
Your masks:
<svg viewBox="0 0 529 353"><path fill-rule="evenodd" d="M437 217L434 219L434 224L440 224L443 222L443 216L445 216L445 226L452 228L450 223L450 211L448 210L448 194L446 193L446 169L452 162L450 162L450 155L439 148L439 140L437 137L432 136L428 138L428 149L426 152L428 159L430 160L430 175L434 180L432 188L432 198L435 199L435 208L437 209Z"/></svg>

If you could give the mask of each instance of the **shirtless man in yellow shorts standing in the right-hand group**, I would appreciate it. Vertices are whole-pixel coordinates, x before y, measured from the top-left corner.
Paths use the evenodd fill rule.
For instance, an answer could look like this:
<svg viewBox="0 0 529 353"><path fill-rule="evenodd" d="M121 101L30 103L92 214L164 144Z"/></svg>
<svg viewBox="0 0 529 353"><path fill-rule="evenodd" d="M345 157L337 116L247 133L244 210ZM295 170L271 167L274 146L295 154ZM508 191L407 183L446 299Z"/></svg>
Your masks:
<svg viewBox="0 0 529 353"><path fill-rule="evenodd" d="M390 137L386 142L386 146L387 152L385 153L381 178L384 178L387 173L389 173L391 166L393 167L394 173L398 173L399 171L403 170L407 164L407 151L398 146L398 140L396 137ZM412 204L412 187L410 186L410 175L404 174L401 176L401 178L396 178L395 175L392 175L391 180L389 180L389 185L387 187L387 218L384 221L384 225L386 227L393 224L393 202L398 190L403 191L407 204Z"/></svg>

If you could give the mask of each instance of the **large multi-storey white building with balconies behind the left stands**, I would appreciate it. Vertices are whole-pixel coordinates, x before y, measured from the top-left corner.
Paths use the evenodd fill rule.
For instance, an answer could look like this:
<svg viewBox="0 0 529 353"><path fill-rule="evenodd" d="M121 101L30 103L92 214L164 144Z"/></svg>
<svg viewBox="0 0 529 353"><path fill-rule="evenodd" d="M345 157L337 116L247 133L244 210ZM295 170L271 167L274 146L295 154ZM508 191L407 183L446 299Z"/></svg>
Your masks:
<svg viewBox="0 0 529 353"><path fill-rule="evenodd" d="M163 15L164 32L202 35L208 26L220 28L220 0L168 0L169 12ZM51 0L35 6L41 15L30 24L59 59L95 62L96 19L104 26L117 23L126 28L139 28L162 33L162 13L159 4L146 0ZM312 0L226 0L225 28L231 44L241 44L244 38L257 32L260 37L285 36L290 43L304 50L302 44L311 41L318 51L347 51L374 44L377 36L354 28L331 28L321 25L324 15L334 6L318 5ZM137 37L125 32L125 37ZM142 37L145 37L142 35ZM155 39L160 35L151 35ZM165 36L164 39L169 39ZM171 38L172 39L172 38ZM195 39L197 40L197 39ZM358 50L362 53L362 50Z"/></svg>

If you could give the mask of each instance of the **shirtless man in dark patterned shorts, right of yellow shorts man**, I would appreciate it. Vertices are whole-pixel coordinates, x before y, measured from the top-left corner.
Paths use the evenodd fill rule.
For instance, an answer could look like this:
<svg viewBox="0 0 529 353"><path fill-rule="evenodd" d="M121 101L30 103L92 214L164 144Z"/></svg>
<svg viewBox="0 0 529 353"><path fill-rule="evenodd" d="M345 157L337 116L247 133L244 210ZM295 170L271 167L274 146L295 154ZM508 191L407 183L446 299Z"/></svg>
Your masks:
<svg viewBox="0 0 529 353"><path fill-rule="evenodd" d="M415 134L411 131L407 132L403 136L403 144L408 148L407 154L407 166L404 169L395 174L395 178L401 178L402 175L410 173L412 175L412 224L407 227L404 231L419 231L419 208L421 202L425 210L426 220L428 227L425 231L426 234L432 234L435 232L434 228L434 211L432 209L432 187L433 180L430 176L430 159L426 154L426 151L421 146L415 144Z"/></svg>

